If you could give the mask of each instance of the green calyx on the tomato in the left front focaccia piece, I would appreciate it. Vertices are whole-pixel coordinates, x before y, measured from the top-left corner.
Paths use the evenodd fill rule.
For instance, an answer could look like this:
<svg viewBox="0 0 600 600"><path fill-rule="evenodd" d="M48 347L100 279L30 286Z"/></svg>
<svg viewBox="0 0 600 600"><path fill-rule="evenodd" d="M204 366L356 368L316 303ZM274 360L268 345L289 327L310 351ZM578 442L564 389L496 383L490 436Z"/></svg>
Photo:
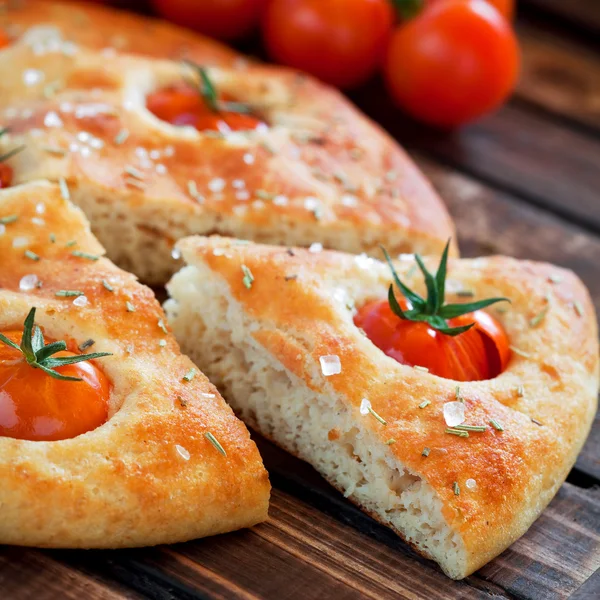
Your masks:
<svg viewBox="0 0 600 600"><path fill-rule="evenodd" d="M61 381L81 381L79 377L69 377L56 371L56 367L72 365L86 360L112 356L110 352L93 352L92 354L80 354L75 356L53 356L57 352L67 349L64 341L45 344L42 330L35 325L35 307L33 307L23 324L23 337L21 344L17 345L11 339L0 333L0 342L19 351L25 358L28 365L34 369L40 369L54 379Z"/></svg>

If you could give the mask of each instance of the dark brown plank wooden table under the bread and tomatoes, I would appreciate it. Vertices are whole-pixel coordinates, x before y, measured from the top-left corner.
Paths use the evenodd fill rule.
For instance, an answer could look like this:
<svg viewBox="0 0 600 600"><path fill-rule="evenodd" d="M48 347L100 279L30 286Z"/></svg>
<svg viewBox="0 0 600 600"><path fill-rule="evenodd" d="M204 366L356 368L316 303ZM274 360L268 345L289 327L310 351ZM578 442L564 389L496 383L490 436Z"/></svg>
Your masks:
<svg viewBox="0 0 600 600"><path fill-rule="evenodd" d="M522 1L514 99L454 134L402 117L375 82L353 100L415 156L450 207L463 255L569 267L600 309L600 2ZM308 465L257 438L269 520L124 551L0 548L0 598L600 598L600 419L530 531L464 581L447 579Z"/></svg>

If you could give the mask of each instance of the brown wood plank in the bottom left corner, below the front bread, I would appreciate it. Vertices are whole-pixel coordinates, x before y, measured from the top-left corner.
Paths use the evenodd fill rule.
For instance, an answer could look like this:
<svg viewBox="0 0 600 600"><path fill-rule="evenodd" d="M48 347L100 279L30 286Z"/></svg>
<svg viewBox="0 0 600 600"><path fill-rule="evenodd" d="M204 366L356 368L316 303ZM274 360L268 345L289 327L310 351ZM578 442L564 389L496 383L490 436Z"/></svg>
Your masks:
<svg viewBox="0 0 600 600"><path fill-rule="evenodd" d="M141 598L97 574L87 575L54 560L49 553L0 547L0 597L7 600L110 600Z"/></svg>

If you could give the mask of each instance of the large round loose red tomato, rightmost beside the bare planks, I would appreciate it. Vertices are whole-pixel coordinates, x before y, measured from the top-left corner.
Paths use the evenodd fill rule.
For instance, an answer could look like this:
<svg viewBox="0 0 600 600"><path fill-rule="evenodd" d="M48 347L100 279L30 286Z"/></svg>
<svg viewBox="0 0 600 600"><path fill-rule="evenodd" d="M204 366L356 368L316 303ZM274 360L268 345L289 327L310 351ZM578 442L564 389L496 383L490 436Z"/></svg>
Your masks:
<svg viewBox="0 0 600 600"><path fill-rule="evenodd" d="M496 9L484 0L448 0L396 30L385 76L401 108L453 127L502 104L519 64L515 34Z"/></svg>

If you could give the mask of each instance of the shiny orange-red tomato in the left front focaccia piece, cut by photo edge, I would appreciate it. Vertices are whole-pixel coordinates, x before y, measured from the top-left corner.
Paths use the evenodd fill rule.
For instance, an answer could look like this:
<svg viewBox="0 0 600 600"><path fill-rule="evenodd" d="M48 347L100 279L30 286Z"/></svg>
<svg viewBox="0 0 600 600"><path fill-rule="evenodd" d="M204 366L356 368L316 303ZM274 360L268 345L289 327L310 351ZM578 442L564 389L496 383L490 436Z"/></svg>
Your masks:
<svg viewBox="0 0 600 600"><path fill-rule="evenodd" d="M22 332L4 335L17 344ZM55 356L72 356L58 352ZM82 381L54 379L27 364L17 351L0 344L0 436L22 440L63 440L106 422L110 384L91 362L57 367L62 375Z"/></svg>

